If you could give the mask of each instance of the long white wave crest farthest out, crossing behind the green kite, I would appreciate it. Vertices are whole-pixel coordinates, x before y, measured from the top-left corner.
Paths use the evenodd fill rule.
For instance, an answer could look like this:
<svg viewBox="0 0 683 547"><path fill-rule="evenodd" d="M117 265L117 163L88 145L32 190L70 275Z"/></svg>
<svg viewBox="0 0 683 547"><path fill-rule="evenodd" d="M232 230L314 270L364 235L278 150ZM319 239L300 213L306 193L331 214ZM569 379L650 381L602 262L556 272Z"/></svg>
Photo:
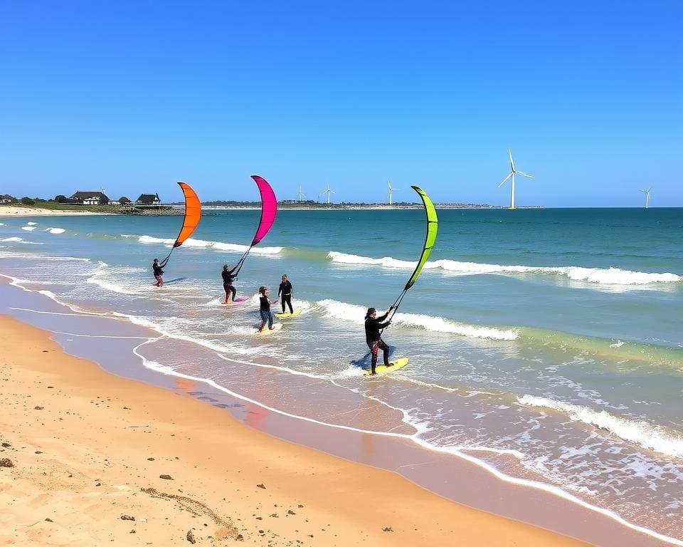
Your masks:
<svg viewBox="0 0 683 547"><path fill-rule="evenodd" d="M327 257L337 264L367 264L394 269L413 269L417 262L393 259L385 256L371 259L367 256L344 254L331 251ZM675 273L647 273L642 271L622 270L619 268L581 268L579 266L506 266L503 264L480 264L477 262L459 262L455 260L437 260L428 262L425 270L441 269L459 275L475 275L483 273L544 273L566 276L574 281L588 281L600 285L647 285L650 283L677 283L683 281L682 276Z"/></svg>

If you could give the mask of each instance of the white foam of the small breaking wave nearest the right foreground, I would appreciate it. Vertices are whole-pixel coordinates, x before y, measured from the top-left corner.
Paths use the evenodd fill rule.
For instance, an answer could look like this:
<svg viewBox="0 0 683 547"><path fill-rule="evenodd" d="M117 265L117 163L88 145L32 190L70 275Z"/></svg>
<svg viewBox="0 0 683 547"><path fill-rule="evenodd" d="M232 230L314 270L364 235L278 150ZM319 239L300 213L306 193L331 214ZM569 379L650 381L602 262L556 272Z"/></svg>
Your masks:
<svg viewBox="0 0 683 547"><path fill-rule="evenodd" d="M641 447L668 456L683 458L683 434L679 432L667 431L661 426L650 424L644 420L613 416L605 410L598 412L588 407L546 399L545 397L523 395L517 397L517 401L521 405L529 407L546 407L563 412L575 422L583 422L600 429L606 429L617 437L639 444Z"/></svg>

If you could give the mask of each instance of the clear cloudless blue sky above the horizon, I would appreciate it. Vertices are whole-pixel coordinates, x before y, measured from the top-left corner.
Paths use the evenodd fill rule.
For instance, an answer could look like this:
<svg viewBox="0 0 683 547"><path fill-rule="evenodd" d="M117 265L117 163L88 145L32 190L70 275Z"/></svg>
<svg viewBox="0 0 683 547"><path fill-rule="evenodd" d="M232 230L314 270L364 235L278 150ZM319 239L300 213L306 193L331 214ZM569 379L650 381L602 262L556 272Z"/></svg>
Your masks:
<svg viewBox="0 0 683 547"><path fill-rule="evenodd" d="M462 5L457 5L462 4ZM0 0L0 194L683 207L683 2Z"/></svg>

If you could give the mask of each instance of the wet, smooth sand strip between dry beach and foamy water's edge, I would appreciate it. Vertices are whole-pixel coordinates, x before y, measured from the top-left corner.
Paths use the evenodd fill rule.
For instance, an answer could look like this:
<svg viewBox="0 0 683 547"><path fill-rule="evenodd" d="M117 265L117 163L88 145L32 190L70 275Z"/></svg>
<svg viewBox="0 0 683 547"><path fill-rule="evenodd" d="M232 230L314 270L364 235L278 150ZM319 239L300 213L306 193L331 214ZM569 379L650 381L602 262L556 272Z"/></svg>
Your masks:
<svg viewBox="0 0 683 547"><path fill-rule="evenodd" d="M51 321L55 318L51 314L63 316L61 312L66 307L64 304L52 299L48 300L36 291L22 288L20 285L15 288L8 286L7 283L0 283L0 291L3 296L9 296L5 298L6 306L13 305L9 303L10 301L15 301L14 305L29 306L29 308L3 306L5 311L0 310L0 313L11 313L20 321L38 324L48 330L64 330L64 327L55 329L51 326L53 325ZM16 302L17 299L14 298L16 296L21 296L19 302ZM23 309L30 312L30 308L43 311L35 314L16 311ZM67 330L89 332L94 328L92 323L96 319L97 323L105 322L105 325L109 325L103 332L121 334L120 336L105 336L107 343L117 338L137 339L134 346L129 340L129 346L115 348L112 351L112 348L107 350L103 347L102 343L105 340L100 342L101 337L97 340L98 337L94 333L75 334L77 337L84 338L70 338L73 335L67 336L69 333L53 335L53 339L57 340L68 353L95 360L115 377L129 377L154 386L162 385L176 392L189 394L200 400L203 405L209 402L213 406L228 410L239 422L267 434L295 442L303 447L322 450L327 454L332 454L332 457L342 457L352 462L369 464L375 469L396 472L408 481L417 484L418 487L435 492L444 499L483 509L489 513L502 514L536 526L544 526L570 536L581 537L584 541L591 541L598 545L659 546L664 544L657 540L656 533L654 536L649 532L645 535L639 533L637 528L634 529L631 525L625 526L618 519L614 519L608 511L605 512L598 507L584 507L576 501L563 499L562 496L540 487L543 485L534 487L529 484L515 484L514 481L509 481L504 476L497 476L492 469L485 469L480 464L476 464L475 459L468 454L454 457L453 454L440 454L418 447L415 443L408 442L407 439L397 439L391 434L383 436L361 430L349 431L329 427L321 422L307 421L305 418L287 415L286 412L263 406L263 403L230 392L211 380L164 372L154 366L147 366L147 363L145 367L140 367L137 359L121 361L120 358L114 358L114 356L130 354L132 357L134 353L137 358L142 358L142 355L135 351L139 345L142 345L139 340L158 338L159 333L154 331L153 334L149 334L152 331L147 328L133 325L129 321L112 319L111 316L100 316L97 313L90 316L83 316L80 313L67 315L80 316L83 321L87 321L87 325L84 323L82 330L78 330L75 324L70 325ZM135 329L134 336L130 336L132 327ZM125 332L121 330L122 328ZM97 346L94 345L95 341L97 341ZM116 341L119 343L122 340ZM192 346L191 344L190 347ZM201 348L195 348L192 351L201 351ZM173 382L176 384L174 385ZM673 543L676 541L674 540Z"/></svg>

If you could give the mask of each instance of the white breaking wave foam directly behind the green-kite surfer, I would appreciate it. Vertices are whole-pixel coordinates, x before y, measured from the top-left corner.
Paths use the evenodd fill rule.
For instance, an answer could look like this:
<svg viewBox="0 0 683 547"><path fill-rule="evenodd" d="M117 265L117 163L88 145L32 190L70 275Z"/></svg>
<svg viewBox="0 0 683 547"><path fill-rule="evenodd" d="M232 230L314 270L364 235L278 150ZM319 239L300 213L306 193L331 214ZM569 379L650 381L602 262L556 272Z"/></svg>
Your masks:
<svg viewBox="0 0 683 547"><path fill-rule="evenodd" d="M367 308L356 306L346 302L336 300L318 301L317 305L324 308L324 314L336 319L352 321L356 325L365 322ZM467 338L486 338L489 340L516 340L519 334L515 330L501 330L492 327L482 327L478 325L466 325L457 323L443 317L425 316L418 313L396 313L393 317L393 325L404 325L408 327L418 327L425 330L432 330L437 333L450 333Z"/></svg>

